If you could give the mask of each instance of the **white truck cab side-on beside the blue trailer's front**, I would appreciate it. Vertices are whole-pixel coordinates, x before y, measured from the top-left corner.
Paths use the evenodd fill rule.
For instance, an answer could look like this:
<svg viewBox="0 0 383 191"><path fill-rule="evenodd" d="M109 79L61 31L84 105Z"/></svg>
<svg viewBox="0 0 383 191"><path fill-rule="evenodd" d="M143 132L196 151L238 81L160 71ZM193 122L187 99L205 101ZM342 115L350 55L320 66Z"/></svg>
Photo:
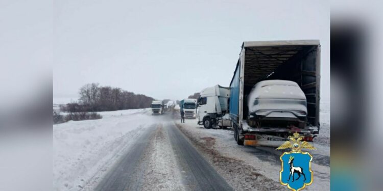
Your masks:
<svg viewBox="0 0 383 191"><path fill-rule="evenodd" d="M214 126L230 127L229 119L230 88L216 85L205 88L198 98L198 124L205 128Z"/></svg>

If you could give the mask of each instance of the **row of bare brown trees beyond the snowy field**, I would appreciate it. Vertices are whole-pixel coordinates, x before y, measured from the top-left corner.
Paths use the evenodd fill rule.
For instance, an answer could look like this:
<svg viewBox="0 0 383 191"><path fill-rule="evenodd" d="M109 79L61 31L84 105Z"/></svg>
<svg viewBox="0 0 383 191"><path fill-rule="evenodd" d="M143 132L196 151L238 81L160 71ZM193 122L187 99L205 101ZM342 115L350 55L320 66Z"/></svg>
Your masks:
<svg viewBox="0 0 383 191"><path fill-rule="evenodd" d="M150 107L152 97L134 94L120 88L87 84L80 88L78 103L69 103L61 107L63 112L101 112Z"/></svg>

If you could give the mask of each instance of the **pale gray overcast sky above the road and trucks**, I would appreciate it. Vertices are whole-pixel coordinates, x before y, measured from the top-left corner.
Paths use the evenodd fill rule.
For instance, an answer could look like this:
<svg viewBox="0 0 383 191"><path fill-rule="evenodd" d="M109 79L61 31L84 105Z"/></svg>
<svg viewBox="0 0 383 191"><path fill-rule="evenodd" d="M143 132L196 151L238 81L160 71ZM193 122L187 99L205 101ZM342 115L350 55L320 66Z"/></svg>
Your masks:
<svg viewBox="0 0 383 191"><path fill-rule="evenodd" d="M193 2L193 3L192 3ZM229 86L243 41L319 39L329 98L328 1L57 1L53 96L87 83L156 99Z"/></svg>

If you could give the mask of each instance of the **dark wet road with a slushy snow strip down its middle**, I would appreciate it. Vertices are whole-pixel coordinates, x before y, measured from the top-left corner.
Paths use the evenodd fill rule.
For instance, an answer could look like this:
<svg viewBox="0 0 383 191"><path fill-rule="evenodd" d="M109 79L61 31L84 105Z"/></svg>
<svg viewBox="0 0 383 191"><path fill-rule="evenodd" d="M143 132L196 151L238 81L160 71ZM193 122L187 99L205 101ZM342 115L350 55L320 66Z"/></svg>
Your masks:
<svg viewBox="0 0 383 191"><path fill-rule="evenodd" d="M148 128L95 190L232 188L183 137L174 123L166 123Z"/></svg>

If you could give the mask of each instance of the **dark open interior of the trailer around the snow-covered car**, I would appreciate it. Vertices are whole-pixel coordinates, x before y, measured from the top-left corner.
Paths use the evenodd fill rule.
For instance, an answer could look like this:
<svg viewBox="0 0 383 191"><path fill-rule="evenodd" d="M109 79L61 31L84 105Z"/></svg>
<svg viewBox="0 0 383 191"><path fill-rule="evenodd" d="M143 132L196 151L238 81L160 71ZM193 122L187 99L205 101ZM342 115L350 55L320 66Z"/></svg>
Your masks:
<svg viewBox="0 0 383 191"><path fill-rule="evenodd" d="M289 41L281 46L244 42L244 98L258 81L283 79L295 81L306 95L307 121L319 127L320 45L319 41ZM310 45L311 44L311 45ZM244 102L246 103L246 102ZM248 109L245 108L246 118Z"/></svg>

